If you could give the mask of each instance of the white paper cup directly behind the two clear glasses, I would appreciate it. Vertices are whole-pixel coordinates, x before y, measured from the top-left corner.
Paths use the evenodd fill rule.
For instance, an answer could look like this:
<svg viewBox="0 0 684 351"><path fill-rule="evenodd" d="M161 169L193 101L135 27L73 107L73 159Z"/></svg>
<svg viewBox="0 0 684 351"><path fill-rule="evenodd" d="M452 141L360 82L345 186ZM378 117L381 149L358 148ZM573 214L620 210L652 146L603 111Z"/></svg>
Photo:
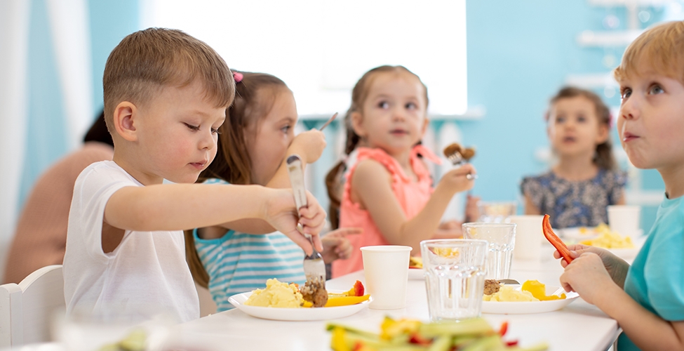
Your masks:
<svg viewBox="0 0 684 351"><path fill-rule="evenodd" d="M516 223L516 246L513 258L516 260L539 260L542 255L542 220L544 216L510 216L508 220Z"/></svg>

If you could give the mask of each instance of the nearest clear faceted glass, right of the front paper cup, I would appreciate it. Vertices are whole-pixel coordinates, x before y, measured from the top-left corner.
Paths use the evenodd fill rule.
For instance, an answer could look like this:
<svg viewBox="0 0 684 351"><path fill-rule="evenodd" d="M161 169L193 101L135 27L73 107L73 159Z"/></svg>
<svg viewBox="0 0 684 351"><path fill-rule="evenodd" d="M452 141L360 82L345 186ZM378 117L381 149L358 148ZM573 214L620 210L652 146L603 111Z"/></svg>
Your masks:
<svg viewBox="0 0 684 351"><path fill-rule="evenodd" d="M487 270L484 240L425 240L420 243L430 319L479 317Z"/></svg>

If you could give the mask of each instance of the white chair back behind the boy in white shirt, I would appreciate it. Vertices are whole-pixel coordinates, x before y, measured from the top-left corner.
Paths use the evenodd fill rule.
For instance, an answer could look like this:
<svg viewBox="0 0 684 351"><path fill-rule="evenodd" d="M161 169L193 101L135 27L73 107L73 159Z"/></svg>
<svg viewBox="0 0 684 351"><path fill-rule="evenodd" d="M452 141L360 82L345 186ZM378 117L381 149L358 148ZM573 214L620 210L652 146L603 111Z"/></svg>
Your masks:
<svg viewBox="0 0 684 351"><path fill-rule="evenodd" d="M48 265L19 284L0 285L0 347L50 340L57 310L66 310L62 265Z"/></svg>

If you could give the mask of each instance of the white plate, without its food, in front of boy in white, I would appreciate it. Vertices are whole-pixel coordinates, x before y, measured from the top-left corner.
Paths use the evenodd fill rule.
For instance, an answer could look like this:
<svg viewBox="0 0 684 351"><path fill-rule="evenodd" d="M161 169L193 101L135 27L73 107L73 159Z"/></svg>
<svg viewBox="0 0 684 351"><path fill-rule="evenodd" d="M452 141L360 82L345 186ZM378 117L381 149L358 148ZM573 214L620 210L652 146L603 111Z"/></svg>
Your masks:
<svg viewBox="0 0 684 351"><path fill-rule="evenodd" d="M343 293L344 291L330 290L331 293ZM373 296L362 303L349 306L319 307L319 308L278 308L278 307L257 307L244 305L245 301L252 292L239 293L228 298L238 310L249 314L252 317L263 319L274 319L277 321L319 321L351 316L358 311L368 307L368 303L373 300Z"/></svg>

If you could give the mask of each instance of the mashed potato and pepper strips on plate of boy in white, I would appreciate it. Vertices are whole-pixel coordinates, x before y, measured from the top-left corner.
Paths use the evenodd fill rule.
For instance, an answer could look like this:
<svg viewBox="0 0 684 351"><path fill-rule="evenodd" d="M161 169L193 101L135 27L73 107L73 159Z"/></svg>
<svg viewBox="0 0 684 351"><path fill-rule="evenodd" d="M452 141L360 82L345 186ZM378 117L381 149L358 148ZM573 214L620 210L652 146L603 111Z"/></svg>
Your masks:
<svg viewBox="0 0 684 351"><path fill-rule="evenodd" d="M328 299L320 307L339 307L362 303L370 298L370 295L364 294L365 290L363 284L357 280L349 291L343 293L327 291ZM266 289L253 291L252 295L245 301L245 305L283 308L313 307L311 302L304 300L297 284L279 282L275 278L266 281Z"/></svg>

